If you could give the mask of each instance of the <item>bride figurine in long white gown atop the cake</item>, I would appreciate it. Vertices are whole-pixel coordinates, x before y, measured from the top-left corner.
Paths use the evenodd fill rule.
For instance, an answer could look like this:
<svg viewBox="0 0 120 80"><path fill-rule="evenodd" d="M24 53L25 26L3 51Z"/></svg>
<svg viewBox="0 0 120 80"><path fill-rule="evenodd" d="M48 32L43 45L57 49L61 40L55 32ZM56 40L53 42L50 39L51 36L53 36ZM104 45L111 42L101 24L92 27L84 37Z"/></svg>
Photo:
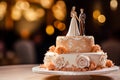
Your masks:
<svg viewBox="0 0 120 80"><path fill-rule="evenodd" d="M71 10L71 22L70 22L70 26L69 26L69 30L66 36L79 36L80 32L78 29L78 24L77 24L77 12L75 11L75 6L72 7Z"/></svg>

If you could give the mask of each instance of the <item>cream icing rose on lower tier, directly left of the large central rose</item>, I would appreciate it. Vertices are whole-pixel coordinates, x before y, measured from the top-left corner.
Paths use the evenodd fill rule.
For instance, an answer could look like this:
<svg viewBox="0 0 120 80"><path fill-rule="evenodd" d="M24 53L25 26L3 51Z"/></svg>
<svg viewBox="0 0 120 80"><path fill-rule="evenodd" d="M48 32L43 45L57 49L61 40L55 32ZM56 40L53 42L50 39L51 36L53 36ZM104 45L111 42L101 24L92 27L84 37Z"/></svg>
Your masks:
<svg viewBox="0 0 120 80"><path fill-rule="evenodd" d="M62 68L65 66L65 60L64 57L62 56L57 56L55 60L53 60L53 64L57 67L57 68Z"/></svg>

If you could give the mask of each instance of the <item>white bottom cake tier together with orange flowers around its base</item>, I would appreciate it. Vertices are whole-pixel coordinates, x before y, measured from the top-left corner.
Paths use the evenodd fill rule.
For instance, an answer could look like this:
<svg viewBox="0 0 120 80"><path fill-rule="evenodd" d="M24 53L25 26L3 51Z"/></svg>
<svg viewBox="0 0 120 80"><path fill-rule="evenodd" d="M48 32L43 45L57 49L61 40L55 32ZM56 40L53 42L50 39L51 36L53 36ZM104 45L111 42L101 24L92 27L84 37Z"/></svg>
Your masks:
<svg viewBox="0 0 120 80"><path fill-rule="evenodd" d="M112 61L107 59L107 54L102 51L70 54L47 52L44 57L44 65L40 67L49 70L88 71L113 65Z"/></svg>

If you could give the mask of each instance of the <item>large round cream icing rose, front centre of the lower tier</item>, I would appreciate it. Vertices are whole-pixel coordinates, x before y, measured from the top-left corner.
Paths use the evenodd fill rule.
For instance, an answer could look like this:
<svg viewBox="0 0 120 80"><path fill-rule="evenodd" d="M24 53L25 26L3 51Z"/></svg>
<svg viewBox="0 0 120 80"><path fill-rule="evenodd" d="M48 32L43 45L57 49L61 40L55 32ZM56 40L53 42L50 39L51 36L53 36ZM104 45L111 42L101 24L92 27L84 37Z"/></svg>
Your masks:
<svg viewBox="0 0 120 80"><path fill-rule="evenodd" d="M76 58L76 63L79 68L85 68L89 67L90 65L90 59L87 56L84 55L78 55Z"/></svg>

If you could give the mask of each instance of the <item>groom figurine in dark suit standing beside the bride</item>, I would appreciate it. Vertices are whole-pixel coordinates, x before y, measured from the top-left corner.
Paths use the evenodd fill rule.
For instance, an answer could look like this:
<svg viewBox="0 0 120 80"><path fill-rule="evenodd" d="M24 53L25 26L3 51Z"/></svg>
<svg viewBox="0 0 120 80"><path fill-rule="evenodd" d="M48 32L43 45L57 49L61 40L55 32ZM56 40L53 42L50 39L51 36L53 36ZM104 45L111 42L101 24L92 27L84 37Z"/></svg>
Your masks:
<svg viewBox="0 0 120 80"><path fill-rule="evenodd" d="M80 15L79 15L79 28L80 28L80 35L85 35L85 19L86 14L84 13L84 9L80 9Z"/></svg>

